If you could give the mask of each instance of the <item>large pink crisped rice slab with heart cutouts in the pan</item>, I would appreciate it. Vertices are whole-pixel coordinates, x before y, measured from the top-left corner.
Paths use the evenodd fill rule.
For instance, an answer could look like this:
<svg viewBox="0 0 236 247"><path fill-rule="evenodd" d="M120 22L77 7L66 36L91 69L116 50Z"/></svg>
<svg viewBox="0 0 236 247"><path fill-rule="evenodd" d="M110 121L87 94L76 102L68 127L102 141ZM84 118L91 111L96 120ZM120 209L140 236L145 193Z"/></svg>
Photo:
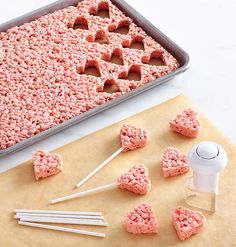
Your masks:
<svg viewBox="0 0 236 247"><path fill-rule="evenodd" d="M97 15L109 11L109 18ZM84 25L85 30L78 25ZM115 31L127 26L127 34ZM106 44L96 42L107 40ZM131 49L139 40L144 50ZM123 65L113 64L113 54ZM163 66L149 64L160 57ZM96 67L100 76L85 74ZM141 87L178 61L109 0L84 0L0 33L0 150ZM133 69L140 81L128 80ZM119 90L108 93L112 79Z"/></svg>

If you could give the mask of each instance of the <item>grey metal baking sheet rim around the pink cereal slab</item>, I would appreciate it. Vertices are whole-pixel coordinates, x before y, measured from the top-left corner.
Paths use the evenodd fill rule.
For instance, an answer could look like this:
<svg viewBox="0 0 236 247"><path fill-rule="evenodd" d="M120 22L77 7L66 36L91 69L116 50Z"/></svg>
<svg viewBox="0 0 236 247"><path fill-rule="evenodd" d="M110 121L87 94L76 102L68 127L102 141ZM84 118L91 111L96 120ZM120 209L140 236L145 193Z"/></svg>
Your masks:
<svg viewBox="0 0 236 247"><path fill-rule="evenodd" d="M0 25L0 32L4 32L9 28L12 28L14 26L19 26L22 25L23 23L30 22L32 20L35 20L39 18L42 15L46 15L49 13L52 13L56 10L66 8L69 6L76 6L78 2L81 0L59 0L56 1L55 3L49 4L45 7L42 7L40 9L37 9L33 12L30 12L26 15L23 15L21 17L18 17L16 19L13 19L9 22L3 23ZM143 30L150 35L154 40L156 40L158 43L160 43L167 51L169 51L180 63L180 67L161 77L158 78L152 82L149 82L148 84L137 88L133 91L130 91L128 93L125 93L124 95L113 99L103 105L96 106L95 108L80 114L79 116L76 116L70 120L67 120L59 125L56 125L55 127L52 127L48 130L45 130L33 137L30 137L20 143L15 144L14 146L11 146L9 148L0 150L0 156L7 155L12 152L19 151L27 146L32 145L33 143L40 141L42 139L47 138L50 135L56 134L59 131L68 128L74 124L77 124L101 111L104 111L108 108L111 108L131 97L134 97L146 90L149 90L157 85L160 85L164 82L169 81L176 75L183 73L186 71L189 67L189 55L182 49L180 48L176 43L174 43L172 40L170 40L165 34L163 34L159 29L157 29L153 24L151 24L148 20L146 20L141 14L139 14L135 9L133 9L129 4L127 4L123 0L111 0L111 2L116 5L121 11L123 11L127 16L131 17L134 22L143 28Z"/></svg>

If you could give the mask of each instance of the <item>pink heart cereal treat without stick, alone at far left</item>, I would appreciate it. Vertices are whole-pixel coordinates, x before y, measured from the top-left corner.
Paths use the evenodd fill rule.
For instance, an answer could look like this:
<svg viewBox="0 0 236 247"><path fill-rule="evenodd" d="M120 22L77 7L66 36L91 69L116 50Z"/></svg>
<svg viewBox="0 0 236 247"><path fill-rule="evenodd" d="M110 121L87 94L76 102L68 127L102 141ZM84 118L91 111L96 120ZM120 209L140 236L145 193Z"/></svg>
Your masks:
<svg viewBox="0 0 236 247"><path fill-rule="evenodd" d="M33 153L34 173L36 180L58 174L62 170L62 156L38 150Z"/></svg>

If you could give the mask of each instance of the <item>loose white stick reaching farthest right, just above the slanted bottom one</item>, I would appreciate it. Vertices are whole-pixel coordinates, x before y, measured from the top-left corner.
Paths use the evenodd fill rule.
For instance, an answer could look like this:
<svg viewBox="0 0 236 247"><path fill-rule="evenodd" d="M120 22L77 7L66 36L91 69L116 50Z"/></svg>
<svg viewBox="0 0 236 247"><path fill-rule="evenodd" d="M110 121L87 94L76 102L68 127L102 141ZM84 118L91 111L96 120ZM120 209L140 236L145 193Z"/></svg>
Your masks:
<svg viewBox="0 0 236 247"><path fill-rule="evenodd" d="M55 224L72 224L72 225L88 225L88 226L108 226L107 222L103 220L86 220L86 219L65 219L65 218L52 218L52 217L29 217L24 216L20 221L28 222L42 222L42 223L55 223Z"/></svg>

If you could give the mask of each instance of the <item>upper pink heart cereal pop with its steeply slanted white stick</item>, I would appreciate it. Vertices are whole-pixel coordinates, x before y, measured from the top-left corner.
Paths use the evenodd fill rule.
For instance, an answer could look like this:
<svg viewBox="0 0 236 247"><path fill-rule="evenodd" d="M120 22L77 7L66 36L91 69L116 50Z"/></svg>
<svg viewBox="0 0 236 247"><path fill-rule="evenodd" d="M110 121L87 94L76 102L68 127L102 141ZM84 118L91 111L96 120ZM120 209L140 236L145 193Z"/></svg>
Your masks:
<svg viewBox="0 0 236 247"><path fill-rule="evenodd" d="M123 124L120 129L120 142L121 148L115 151L110 157L104 160L96 169L89 173L85 178L83 178L78 184L79 188L92 176L94 176L98 171L100 171L105 165L107 165L111 160L113 160L121 152L127 152L130 150L135 150L142 148L146 145L148 139L148 132L141 128L136 128L128 123Z"/></svg>

